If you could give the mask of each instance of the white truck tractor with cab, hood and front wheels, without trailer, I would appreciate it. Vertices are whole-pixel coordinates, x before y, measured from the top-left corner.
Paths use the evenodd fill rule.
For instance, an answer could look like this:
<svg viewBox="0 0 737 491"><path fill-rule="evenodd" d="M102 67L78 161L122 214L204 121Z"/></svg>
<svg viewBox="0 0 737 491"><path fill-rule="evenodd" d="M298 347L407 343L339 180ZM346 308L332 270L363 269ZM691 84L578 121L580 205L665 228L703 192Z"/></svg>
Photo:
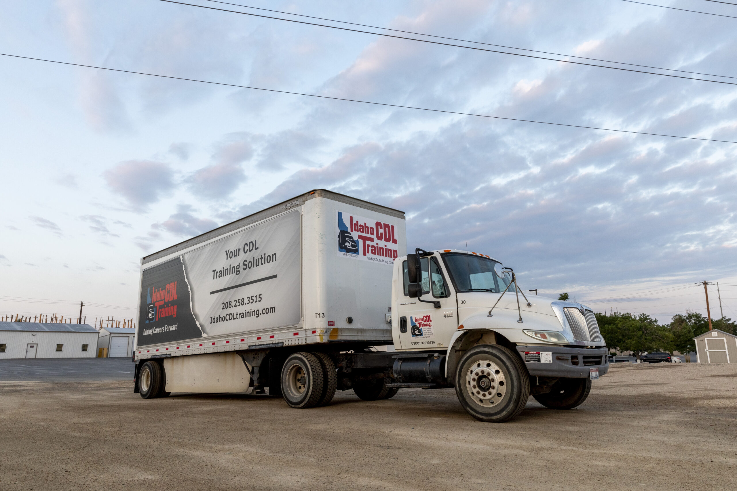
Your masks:
<svg viewBox="0 0 737 491"><path fill-rule="evenodd" d="M519 414L525 392L548 407L578 406L609 368L590 308L526 297L511 268L480 252L418 249L397 258L391 310L395 349L416 357L399 358L392 385L455 386L480 420ZM431 358L439 360L434 372ZM419 365L427 367L422 383Z"/></svg>

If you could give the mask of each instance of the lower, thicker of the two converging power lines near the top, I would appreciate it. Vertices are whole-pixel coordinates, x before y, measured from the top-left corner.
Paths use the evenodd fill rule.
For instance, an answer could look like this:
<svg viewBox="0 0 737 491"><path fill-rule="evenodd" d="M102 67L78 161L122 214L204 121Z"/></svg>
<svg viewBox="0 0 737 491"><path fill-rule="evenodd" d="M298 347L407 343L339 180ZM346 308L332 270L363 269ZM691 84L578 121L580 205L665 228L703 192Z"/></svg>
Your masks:
<svg viewBox="0 0 737 491"><path fill-rule="evenodd" d="M235 13L235 14L240 14L240 15L251 15L252 17L269 18L269 19L273 19L275 21L294 22L296 24L305 24L305 25L308 25L308 26L328 27L329 29L339 29L341 31L361 32L363 34L370 34L370 35L375 35L375 36L384 36L385 38L405 39L405 40L417 41L419 43L437 44L439 46L453 46L455 48L473 49L475 51L482 51L482 52L489 52L489 53L511 54L512 56L520 56L520 57L525 57L525 58L534 58L536 60L548 60L548 61L555 61L555 62L559 62L559 63L572 63L573 65L581 65L581 66L595 66L595 67L598 67L598 68L608 68L609 70L631 71L633 73L638 73L638 74L659 75L660 77L671 77L671 78L677 78L677 79L683 79L683 80L696 80L696 81L699 81L699 82L720 83L720 84L725 84L725 85L737 85L737 82L727 82L725 80L699 79L699 78L694 78L694 77L683 77L682 75L658 74L658 73L656 73L654 71L635 70L634 68L622 68L622 67L619 67L619 66L597 65L595 63L584 63L584 62L581 62L581 61L572 61L572 60L558 60L556 58L548 58L548 57L544 57L544 56L535 56L533 54L511 53L511 52L499 51L498 49L486 49L486 48L478 48L476 46L463 46L461 44L442 43L441 41L431 41L431 40L427 40L427 39L408 38L406 36L399 36L399 35L394 35L394 34L385 34L385 33L382 33L382 32L370 32L370 31L363 31L361 29L350 29L348 27L329 26L327 24L316 24L315 22L296 21L295 19L281 18L281 17L273 17L271 15L262 15L262 14L254 14L254 13L249 13L249 12L240 12L238 10L228 10L228 9L221 9L221 8L217 8L217 7L207 7L206 5L188 4L188 3L184 2L184 1L175 1L175 0L158 0L158 1L164 1L167 4L186 5L186 6L189 6L189 7L199 7L200 9L217 10L217 11L220 11L220 12Z"/></svg>

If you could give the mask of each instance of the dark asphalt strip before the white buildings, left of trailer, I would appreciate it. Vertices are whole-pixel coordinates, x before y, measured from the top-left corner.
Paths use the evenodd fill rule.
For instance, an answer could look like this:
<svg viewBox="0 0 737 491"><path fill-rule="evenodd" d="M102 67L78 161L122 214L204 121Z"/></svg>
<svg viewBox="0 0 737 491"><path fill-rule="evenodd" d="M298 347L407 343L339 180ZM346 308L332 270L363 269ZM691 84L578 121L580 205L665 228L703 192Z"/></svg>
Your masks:
<svg viewBox="0 0 737 491"><path fill-rule="evenodd" d="M0 359L0 381L133 380L130 358Z"/></svg>

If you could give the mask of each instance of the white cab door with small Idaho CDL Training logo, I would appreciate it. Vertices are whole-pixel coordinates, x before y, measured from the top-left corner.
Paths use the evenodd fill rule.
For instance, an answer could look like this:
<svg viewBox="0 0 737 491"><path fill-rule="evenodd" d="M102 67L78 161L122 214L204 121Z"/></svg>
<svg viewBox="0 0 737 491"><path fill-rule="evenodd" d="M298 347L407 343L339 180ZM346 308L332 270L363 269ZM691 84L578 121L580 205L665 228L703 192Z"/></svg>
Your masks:
<svg viewBox="0 0 737 491"><path fill-rule="evenodd" d="M402 262L404 295L400 292L397 302L399 342L402 350L447 347L453 333L458 329L455 293L450 287L450 282L446 280L438 258L420 258L420 264L422 296L411 298L408 294L407 261ZM420 300L427 300L430 303ZM432 302L439 302L440 308L435 308Z"/></svg>

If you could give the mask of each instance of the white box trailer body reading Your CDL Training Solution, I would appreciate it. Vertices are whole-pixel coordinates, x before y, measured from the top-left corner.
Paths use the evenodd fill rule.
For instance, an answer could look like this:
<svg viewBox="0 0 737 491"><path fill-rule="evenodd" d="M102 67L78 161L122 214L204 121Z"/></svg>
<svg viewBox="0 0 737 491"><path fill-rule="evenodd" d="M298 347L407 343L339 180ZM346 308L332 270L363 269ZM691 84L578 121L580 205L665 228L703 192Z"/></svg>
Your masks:
<svg viewBox="0 0 737 491"><path fill-rule="evenodd" d="M404 213L312 191L142 260L135 358L391 345Z"/></svg>

